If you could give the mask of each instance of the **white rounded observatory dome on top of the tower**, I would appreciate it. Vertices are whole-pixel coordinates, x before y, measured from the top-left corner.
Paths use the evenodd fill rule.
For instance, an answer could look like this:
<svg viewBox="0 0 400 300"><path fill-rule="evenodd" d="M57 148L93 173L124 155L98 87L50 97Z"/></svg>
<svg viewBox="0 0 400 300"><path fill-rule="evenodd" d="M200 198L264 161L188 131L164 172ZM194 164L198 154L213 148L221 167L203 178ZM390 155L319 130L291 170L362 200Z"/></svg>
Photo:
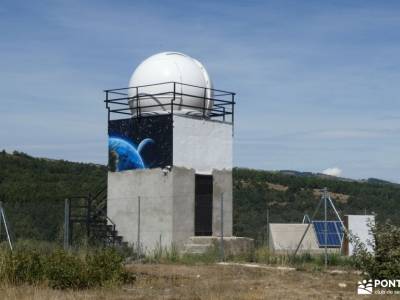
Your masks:
<svg viewBox="0 0 400 300"><path fill-rule="evenodd" d="M144 60L129 80L128 95L133 115L138 110L140 114L169 113L172 101L174 113L208 115L207 109L213 106L212 83L206 69L179 52L162 52Z"/></svg>

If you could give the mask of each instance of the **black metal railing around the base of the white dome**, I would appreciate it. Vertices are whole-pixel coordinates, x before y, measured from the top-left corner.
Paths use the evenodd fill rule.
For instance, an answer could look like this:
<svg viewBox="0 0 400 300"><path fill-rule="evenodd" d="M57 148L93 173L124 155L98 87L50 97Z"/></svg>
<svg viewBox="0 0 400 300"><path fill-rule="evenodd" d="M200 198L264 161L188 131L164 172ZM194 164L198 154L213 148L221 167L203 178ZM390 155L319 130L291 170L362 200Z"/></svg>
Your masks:
<svg viewBox="0 0 400 300"><path fill-rule="evenodd" d="M232 92L180 82L162 82L104 92L109 121L127 116L139 118L160 112L178 114L185 111L185 114L194 117L234 123L235 93ZM188 102L196 102L196 105Z"/></svg>

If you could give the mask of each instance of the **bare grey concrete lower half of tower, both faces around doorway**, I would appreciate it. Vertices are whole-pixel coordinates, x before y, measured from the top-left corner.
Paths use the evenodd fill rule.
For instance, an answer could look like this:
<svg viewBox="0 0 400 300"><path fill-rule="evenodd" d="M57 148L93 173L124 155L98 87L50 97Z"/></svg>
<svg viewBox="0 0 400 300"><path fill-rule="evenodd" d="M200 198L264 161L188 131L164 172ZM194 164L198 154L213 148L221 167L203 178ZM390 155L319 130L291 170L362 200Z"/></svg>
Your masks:
<svg viewBox="0 0 400 300"><path fill-rule="evenodd" d="M232 235L232 172L213 173L213 235L221 232L221 193L224 192L224 236ZM140 243L143 251L172 244L183 249L194 235L195 170L173 167L171 171L144 169L108 174L108 216L130 244L138 239L140 196Z"/></svg>

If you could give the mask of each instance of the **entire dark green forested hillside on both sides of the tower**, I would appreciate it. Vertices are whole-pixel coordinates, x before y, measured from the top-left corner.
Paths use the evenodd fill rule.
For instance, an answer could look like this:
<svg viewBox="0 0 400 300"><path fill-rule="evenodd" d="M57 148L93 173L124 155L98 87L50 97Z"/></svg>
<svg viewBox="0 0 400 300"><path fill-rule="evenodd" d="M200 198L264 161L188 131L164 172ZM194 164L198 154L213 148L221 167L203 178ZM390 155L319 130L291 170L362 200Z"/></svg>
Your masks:
<svg viewBox="0 0 400 300"><path fill-rule="evenodd" d="M0 199L14 236L61 241L64 199L95 192L105 184L106 173L101 165L0 152ZM380 220L400 223L396 184L240 168L234 169L233 179L234 233L239 236L264 240L267 209L270 222L301 222L314 211L323 187L344 214L375 212Z"/></svg>

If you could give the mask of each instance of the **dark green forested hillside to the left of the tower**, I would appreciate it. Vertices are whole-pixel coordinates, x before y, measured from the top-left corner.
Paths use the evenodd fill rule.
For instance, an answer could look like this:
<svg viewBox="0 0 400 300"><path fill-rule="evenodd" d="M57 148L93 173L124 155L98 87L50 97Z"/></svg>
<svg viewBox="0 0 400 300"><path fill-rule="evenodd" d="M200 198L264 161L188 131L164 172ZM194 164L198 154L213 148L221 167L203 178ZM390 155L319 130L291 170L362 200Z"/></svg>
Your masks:
<svg viewBox="0 0 400 300"><path fill-rule="evenodd" d="M0 200L16 238L63 237L64 199L106 183L105 166L0 153Z"/></svg>

